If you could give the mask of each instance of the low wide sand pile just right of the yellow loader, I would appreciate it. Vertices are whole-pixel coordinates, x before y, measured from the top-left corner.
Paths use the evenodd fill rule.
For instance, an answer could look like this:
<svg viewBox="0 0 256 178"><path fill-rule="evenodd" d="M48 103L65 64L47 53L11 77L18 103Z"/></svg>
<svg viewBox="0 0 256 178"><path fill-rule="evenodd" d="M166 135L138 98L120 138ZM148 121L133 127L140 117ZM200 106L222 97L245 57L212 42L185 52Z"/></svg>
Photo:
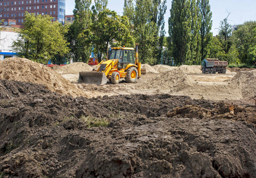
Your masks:
<svg viewBox="0 0 256 178"><path fill-rule="evenodd" d="M180 91L192 83L193 80L182 69L173 69L138 85L141 89Z"/></svg>

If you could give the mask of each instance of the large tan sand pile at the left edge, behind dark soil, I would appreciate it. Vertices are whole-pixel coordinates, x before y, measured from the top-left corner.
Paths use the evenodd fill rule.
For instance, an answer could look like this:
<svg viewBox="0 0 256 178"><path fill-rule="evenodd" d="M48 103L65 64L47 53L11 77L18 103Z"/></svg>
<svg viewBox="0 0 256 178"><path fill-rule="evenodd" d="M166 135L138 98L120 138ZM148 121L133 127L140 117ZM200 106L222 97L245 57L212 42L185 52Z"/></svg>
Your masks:
<svg viewBox="0 0 256 178"><path fill-rule="evenodd" d="M65 80L48 66L25 58L10 58L0 62L0 79L43 84L48 90L68 94L72 97L85 96L70 81Z"/></svg>

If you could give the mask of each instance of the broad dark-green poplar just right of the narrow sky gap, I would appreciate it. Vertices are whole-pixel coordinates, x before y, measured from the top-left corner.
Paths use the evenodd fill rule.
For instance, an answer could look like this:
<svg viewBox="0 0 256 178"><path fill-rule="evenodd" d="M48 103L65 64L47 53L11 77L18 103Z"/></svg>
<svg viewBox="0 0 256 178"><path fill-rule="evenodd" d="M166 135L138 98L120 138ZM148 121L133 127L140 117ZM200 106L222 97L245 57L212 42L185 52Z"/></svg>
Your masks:
<svg viewBox="0 0 256 178"><path fill-rule="evenodd" d="M188 61L191 45L190 0L173 0L170 9L169 35L172 56L177 65Z"/></svg>

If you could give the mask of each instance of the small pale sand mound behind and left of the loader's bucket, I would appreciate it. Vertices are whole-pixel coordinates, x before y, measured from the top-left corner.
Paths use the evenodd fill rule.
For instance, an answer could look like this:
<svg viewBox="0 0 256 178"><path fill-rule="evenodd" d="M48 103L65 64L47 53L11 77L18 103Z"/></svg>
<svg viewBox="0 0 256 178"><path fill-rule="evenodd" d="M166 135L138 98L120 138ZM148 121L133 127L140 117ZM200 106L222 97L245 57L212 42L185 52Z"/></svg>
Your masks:
<svg viewBox="0 0 256 178"><path fill-rule="evenodd" d="M70 63L68 65L64 65L61 68L56 68L56 72L59 72L59 74L79 74L79 72L82 71L91 71L92 68L90 65L84 62L74 62Z"/></svg>

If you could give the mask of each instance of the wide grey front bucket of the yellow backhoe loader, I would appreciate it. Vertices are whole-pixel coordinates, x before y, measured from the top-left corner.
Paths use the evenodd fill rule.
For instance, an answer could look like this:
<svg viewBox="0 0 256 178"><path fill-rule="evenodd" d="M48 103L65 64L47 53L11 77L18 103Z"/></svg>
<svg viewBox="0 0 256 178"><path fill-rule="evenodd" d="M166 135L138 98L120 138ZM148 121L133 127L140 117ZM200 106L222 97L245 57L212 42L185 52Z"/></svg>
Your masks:
<svg viewBox="0 0 256 178"><path fill-rule="evenodd" d="M79 72L78 82L86 83L86 84L103 85L108 82L108 78L103 72L97 72L97 71Z"/></svg>

